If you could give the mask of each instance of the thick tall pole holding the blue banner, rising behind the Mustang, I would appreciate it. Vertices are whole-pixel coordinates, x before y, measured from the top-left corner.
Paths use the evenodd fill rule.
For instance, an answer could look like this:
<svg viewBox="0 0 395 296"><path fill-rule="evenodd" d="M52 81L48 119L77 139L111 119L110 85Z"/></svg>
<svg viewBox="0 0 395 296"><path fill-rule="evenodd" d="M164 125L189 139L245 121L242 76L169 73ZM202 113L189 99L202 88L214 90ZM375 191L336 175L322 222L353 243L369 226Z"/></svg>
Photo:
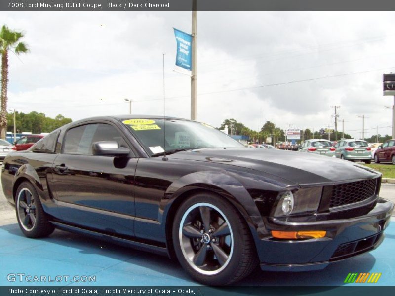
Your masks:
<svg viewBox="0 0 395 296"><path fill-rule="evenodd" d="M197 0L192 0L191 120L197 120Z"/></svg>

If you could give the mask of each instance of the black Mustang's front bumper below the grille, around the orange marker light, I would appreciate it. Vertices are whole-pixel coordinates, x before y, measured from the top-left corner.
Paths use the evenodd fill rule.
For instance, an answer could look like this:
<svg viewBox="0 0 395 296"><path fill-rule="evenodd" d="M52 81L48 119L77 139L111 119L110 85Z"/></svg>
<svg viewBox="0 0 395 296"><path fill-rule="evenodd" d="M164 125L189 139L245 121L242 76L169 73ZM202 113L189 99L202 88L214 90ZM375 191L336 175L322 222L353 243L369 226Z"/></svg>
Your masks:
<svg viewBox="0 0 395 296"><path fill-rule="evenodd" d="M331 262L354 257L377 248L384 239L394 204L378 198L366 215L315 222L267 221L268 230L325 230L326 237L285 240L272 236L256 239L260 266L267 271L323 269Z"/></svg>

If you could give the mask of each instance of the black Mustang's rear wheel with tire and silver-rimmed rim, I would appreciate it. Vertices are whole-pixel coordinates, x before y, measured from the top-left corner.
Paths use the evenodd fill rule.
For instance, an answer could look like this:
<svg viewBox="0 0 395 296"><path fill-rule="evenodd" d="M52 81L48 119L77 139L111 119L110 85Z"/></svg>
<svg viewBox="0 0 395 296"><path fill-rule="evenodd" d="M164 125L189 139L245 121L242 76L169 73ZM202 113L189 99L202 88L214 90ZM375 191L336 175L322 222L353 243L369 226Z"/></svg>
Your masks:
<svg viewBox="0 0 395 296"><path fill-rule="evenodd" d="M22 182L16 191L15 212L19 228L31 238L48 236L55 227L42 209L39 195L30 182Z"/></svg>

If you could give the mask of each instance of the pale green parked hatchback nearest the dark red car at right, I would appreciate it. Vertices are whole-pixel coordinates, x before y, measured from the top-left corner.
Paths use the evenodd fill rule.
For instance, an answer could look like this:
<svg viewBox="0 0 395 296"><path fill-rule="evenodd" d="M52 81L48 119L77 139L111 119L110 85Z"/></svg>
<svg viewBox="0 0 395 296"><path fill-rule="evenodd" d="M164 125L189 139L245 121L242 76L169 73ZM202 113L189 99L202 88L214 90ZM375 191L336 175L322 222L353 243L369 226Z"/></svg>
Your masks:
<svg viewBox="0 0 395 296"><path fill-rule="evenodd" d="M337 158L350 161L363 161L364 163L372 162L372 149L364 140L344 139L336 143L335 155Z"/></svg>

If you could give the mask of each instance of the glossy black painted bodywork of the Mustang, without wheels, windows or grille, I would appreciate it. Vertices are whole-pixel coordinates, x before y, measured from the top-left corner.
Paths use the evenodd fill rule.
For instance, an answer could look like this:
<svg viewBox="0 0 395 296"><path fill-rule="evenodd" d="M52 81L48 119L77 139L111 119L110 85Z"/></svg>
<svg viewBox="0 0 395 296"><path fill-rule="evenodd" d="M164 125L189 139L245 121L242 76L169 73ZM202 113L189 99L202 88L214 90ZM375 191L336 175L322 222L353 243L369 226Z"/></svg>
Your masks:
<svg viewBox="0 0 395 296"><path fill-rule="evenodd" d="M150 157L121 123L129 118L155 116L81 120L61 128L55 153L11 153L1 177L8 201L14 204L18 185L29 180L58 227L172 255L169 229L177 206L191 193L209 190L237 207L251 229L261 267L268 270L322 268L340 243L382 231L378 222L388 221L391 215L393 205L378 199L368 214L348 219L267 217L252 192L276 198L284 190L381 175L351 162L276 149L205 148L174 153L163 161L161 156ZM128 158L62 153L68 129L96 122L112 124L124 135L131 150ZM328 229L332 237L290 242L270 234L270 230L292 229Z"/></svg>

